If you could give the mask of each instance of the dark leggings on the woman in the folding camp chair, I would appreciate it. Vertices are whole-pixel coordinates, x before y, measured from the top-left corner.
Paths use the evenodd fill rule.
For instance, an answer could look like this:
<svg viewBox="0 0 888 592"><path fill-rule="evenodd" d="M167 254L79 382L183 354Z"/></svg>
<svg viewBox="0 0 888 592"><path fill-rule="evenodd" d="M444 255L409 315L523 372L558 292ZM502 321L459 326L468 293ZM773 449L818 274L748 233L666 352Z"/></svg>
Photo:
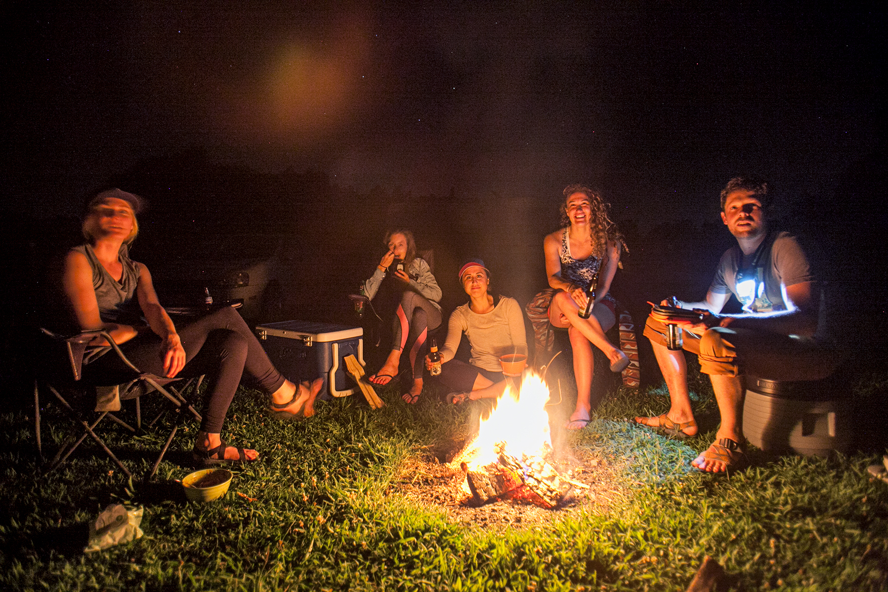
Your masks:
<svg viewBox="0 0 888 592"><path fill-rule="evenodd" d="M269 393L284 383L256 336L241 315L231 306L219 309L178 330L185 349L185 367L177 378L207 375L207 403L201 430L210 434L222 431L222 422L234 399L234 392L246 370L261 388ZM163 340L155 334L139 335L121 344L126 357L142 372L163 376L160 346ZM91 371L125 372L126 368L114 353L108 352L90 364Z"/></svg>

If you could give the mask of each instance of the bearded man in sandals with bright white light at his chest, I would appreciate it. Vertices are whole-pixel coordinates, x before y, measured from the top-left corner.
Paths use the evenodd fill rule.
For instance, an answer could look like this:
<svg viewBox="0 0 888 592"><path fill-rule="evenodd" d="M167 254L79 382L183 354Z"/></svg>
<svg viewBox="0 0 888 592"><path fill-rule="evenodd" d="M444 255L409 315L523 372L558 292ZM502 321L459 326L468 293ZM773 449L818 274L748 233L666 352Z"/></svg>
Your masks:
<svg viewBox="0 0 888 592"><path fill-rule="evenodd" d="M670 410L635 421L678 438L697 433L682 349L697 354L721 414L716 441L692 462L700 470L725 472L744 462L743 375L817 380L836 367L836 356L814 339L821 294L811 265L795 237L768 228L767 192L768 185L755 178L728 182L721 219L737 245L722 256L706 299L672 296L654 307L645 326L670 391ZM719 314L732 294L743 312ZM692 311L699 314L686 314Z"/></svg>

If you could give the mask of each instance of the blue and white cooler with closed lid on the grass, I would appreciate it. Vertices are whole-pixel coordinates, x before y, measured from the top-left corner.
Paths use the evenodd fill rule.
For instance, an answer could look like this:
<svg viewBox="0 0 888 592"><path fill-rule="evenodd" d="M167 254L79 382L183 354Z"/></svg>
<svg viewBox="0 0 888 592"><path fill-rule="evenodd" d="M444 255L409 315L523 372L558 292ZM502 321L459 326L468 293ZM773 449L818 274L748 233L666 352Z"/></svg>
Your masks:
<svg viewBox="0 0 888 592"><path fill-rule="evenodd" d="M362 328L285 320L259 325L256 335L274 367L290 380L323 376L321 399L347 397L358 391L343 359L353 355L365 366Z"/></svg>

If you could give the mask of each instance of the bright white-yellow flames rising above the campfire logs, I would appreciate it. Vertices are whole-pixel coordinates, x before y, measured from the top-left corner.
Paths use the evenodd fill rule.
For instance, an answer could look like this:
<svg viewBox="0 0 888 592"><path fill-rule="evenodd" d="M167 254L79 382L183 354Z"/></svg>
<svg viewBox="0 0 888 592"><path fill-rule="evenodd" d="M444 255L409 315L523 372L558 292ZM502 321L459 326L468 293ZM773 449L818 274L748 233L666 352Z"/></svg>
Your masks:
<svg viewBox="0 0 888 592"><path fill-rule="evenodd" d="M497 462L497 445L519 458L547 454L551 450L548 401L549 389L537 375L525 375L520 393L507 386L490 417L481 420L478 437L455 462L465 462L470 470Z"/></svg>

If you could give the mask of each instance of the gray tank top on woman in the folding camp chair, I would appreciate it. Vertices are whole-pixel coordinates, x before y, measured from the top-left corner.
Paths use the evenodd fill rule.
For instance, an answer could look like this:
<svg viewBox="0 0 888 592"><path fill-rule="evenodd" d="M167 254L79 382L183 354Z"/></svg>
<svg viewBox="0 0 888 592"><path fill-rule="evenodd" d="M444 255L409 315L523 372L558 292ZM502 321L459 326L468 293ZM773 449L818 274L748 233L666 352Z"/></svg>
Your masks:
<svg viewBox="0 0 888 592"><path fill-rule="evenodd" d="M118 259L123 264L123 275L120 281L111 277L107 269L99 262L91 245L80 245L74 248L83 253L92 268L92 288L96 291L99 303L99 317L106 323L121 325L143 325L139 299L136 298L136 285L139 283L139 270L130 258L130 250L121 245Z"/></svg>

